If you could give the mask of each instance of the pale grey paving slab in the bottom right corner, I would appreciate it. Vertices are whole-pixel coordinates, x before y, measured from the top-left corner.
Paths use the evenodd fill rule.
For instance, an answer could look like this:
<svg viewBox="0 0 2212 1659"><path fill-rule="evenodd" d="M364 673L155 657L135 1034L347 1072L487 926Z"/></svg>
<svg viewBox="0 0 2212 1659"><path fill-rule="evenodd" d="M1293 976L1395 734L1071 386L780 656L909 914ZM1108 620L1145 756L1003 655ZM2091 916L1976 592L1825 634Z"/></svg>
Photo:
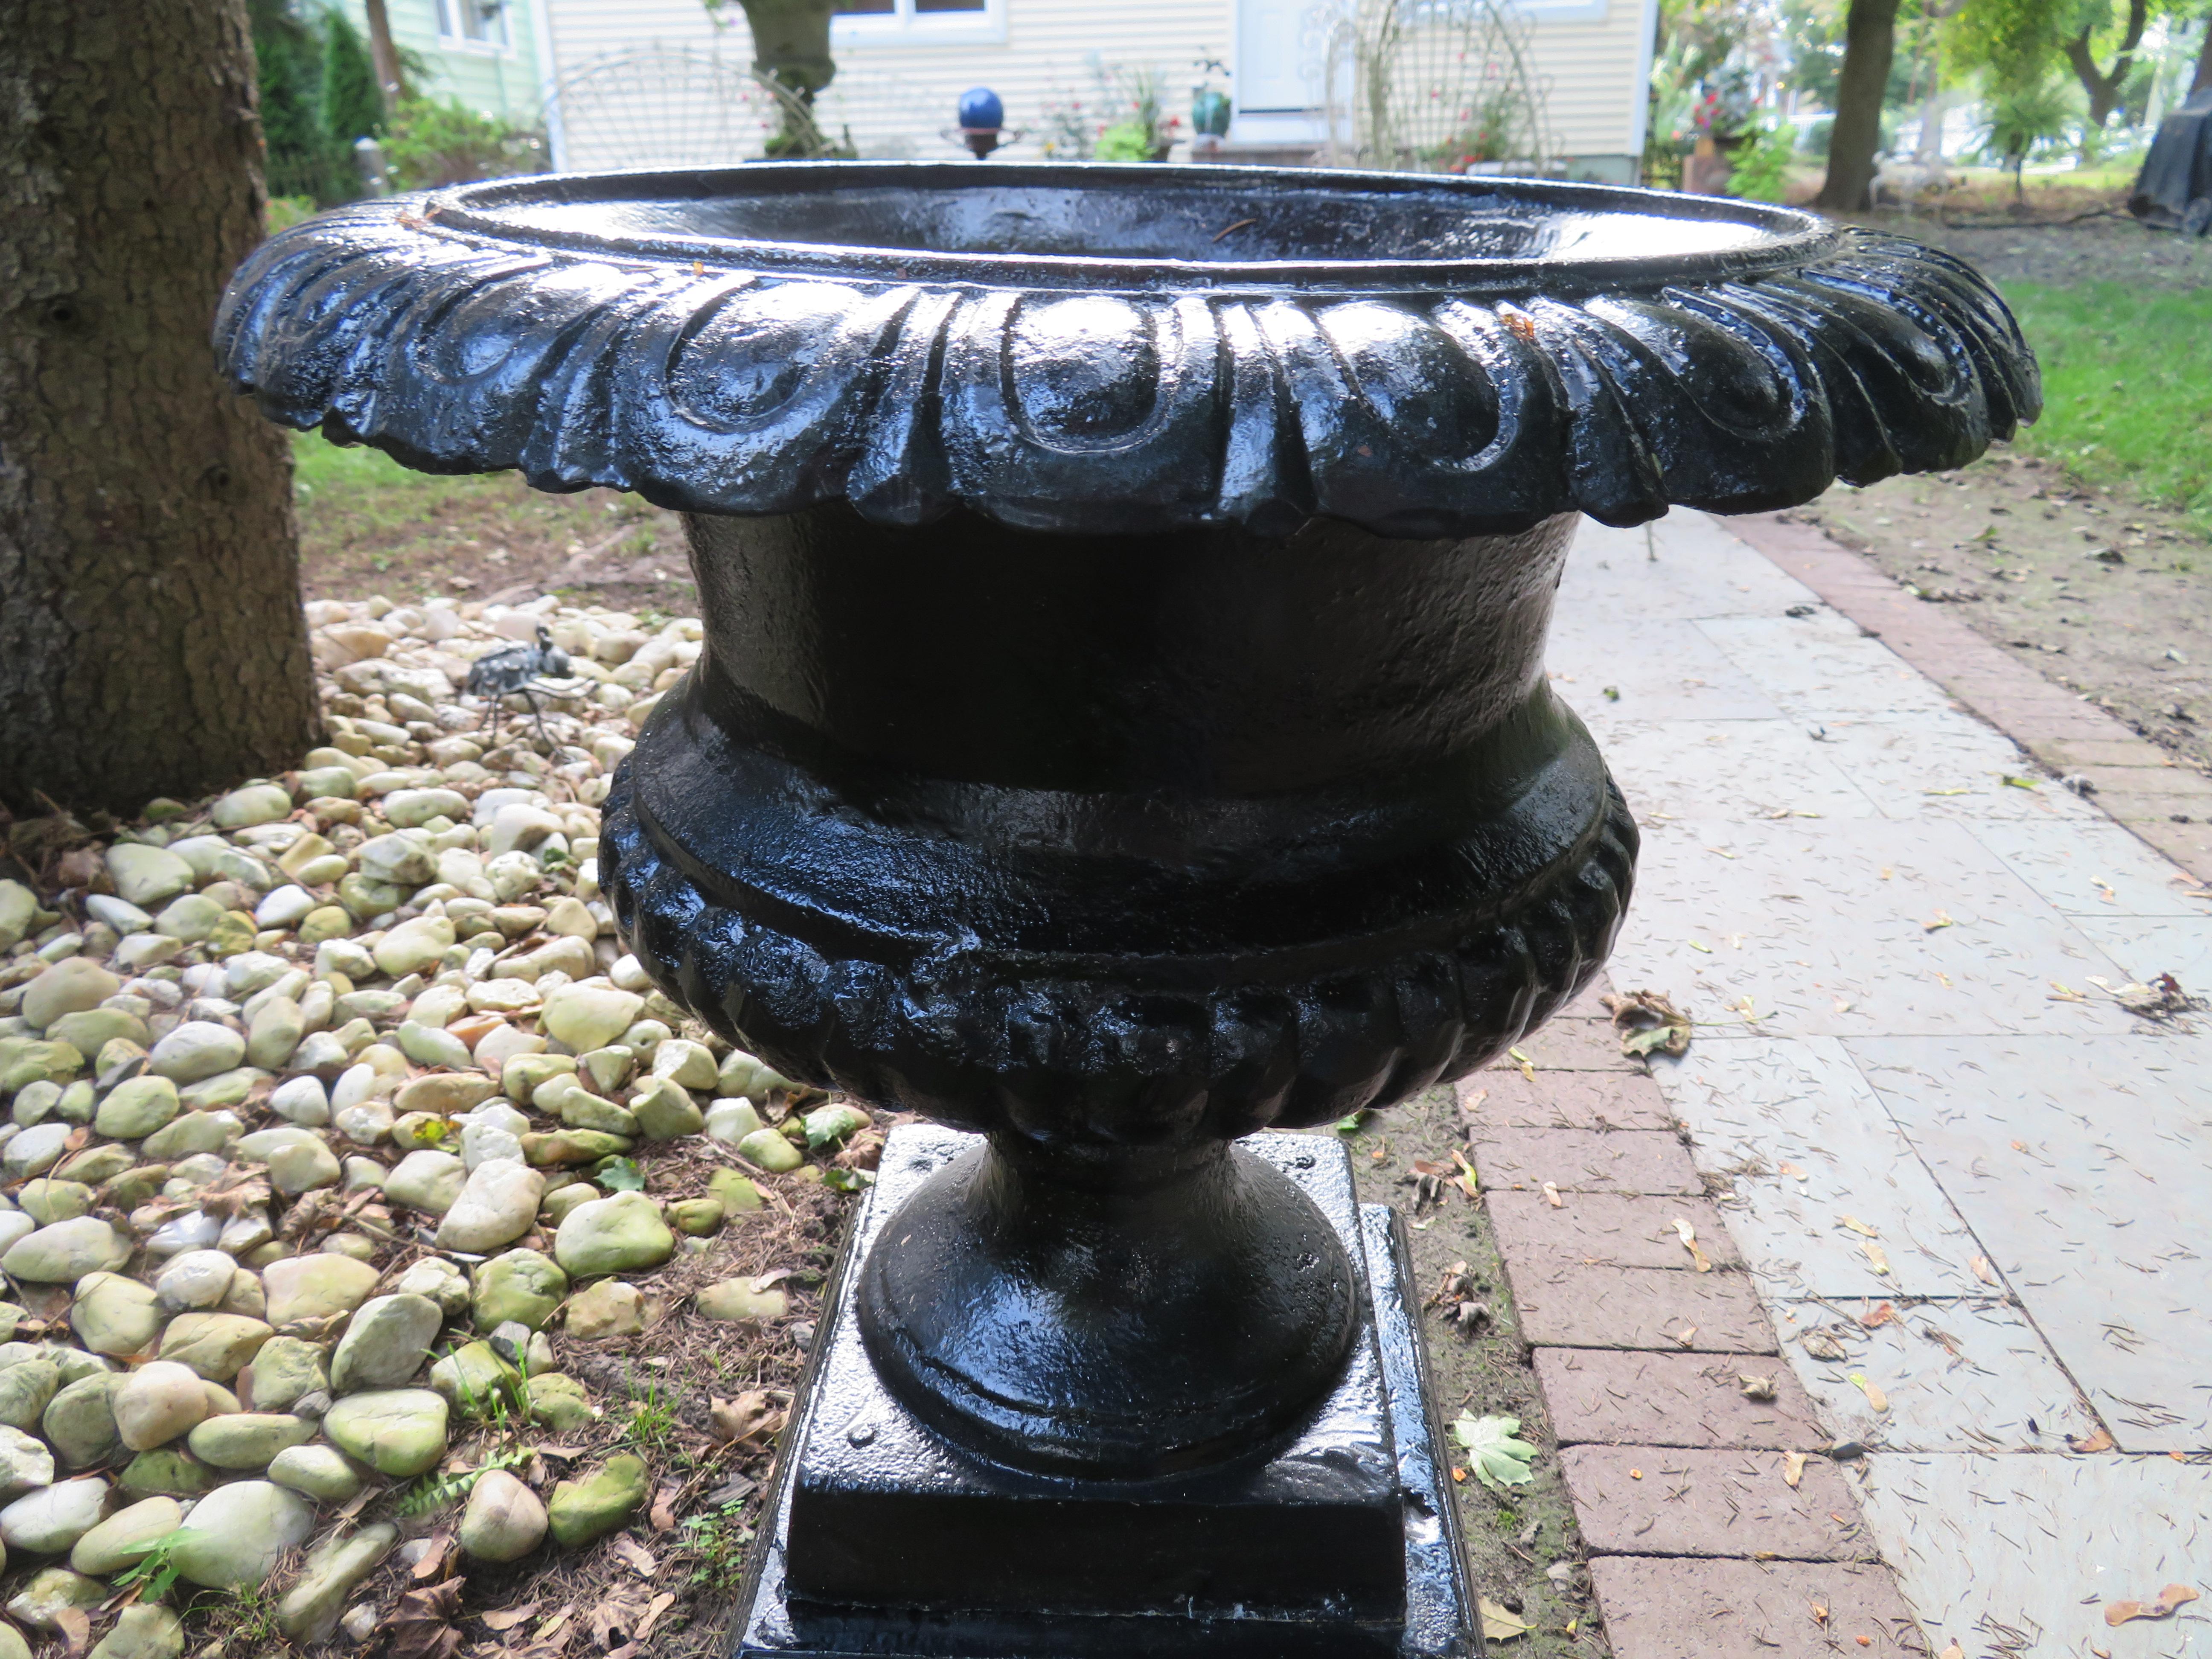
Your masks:
<svg viewBox="0 0 2212 1659"><path fill-rule="evenodd" d="M2212 1652L2212 1469L2168 1458L1924 1455L1865 1462L1867 1526L1933 1644L1982 1655ZM2172 1619L2108 1626L2168 1584Z"/></svg>

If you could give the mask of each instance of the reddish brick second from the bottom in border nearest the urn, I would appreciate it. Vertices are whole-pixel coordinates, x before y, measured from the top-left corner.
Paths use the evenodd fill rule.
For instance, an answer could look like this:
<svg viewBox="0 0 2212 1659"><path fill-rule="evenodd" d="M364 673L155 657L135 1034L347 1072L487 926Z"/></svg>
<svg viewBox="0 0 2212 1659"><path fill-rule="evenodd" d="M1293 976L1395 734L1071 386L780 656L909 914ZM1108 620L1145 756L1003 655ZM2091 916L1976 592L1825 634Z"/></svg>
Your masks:
<svg viewBox="0 0 2212 1659"><path fill-rule="evenodd" d="M1836 1464L1807 1458L1790 1486L1783 1460L1781 1451L1568 1447L1559 1473L1593 1555L1871 1559Z"/></svg>

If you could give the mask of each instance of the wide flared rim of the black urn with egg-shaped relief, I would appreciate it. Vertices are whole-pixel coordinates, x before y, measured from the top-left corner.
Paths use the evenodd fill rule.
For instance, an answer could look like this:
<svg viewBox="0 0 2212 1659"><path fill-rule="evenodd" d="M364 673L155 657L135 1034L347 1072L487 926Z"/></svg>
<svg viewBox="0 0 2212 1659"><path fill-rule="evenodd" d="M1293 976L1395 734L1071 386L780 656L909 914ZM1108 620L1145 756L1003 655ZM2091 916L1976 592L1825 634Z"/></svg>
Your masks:
<svg viewBox="0 0 2212 1659"><path fill-rule="evenodd" d="M1223 166L776 164L354 204L254 252L217 347L272 418L431 471L1071 533L1761 511L1964 465L2042 396L1989 285L1902 237Z"/></svg>

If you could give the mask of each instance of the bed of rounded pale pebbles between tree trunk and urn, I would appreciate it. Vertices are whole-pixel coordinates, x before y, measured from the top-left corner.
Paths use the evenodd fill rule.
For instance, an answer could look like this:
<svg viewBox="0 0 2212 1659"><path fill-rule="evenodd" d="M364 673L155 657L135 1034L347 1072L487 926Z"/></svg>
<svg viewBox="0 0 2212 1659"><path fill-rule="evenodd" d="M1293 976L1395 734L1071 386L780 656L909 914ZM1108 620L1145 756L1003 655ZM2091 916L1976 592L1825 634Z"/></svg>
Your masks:
<svg viewBox="0 0 2212 1659"><path fill-rule="evenodd" d="M626 1276L708 1252L763 1188L856 1190L880 1148L858 1106L690 1024L599 898L599 801L697 619L307 619L330 748L153 803L64 854L58 891L0 880L0 1566L33 1568L0 1659L24 1630L173 1659L195 1586L279 1562L294 1644L365 1641L358 1593L420 1531L398 1500L453 1473L478 1562L633 1524L639 1458L533 1486L480 1455L487 1425L595 1422L549 1332L641 1332ZM520 699L493 730L458 688L540 626L571 657L544 734ZM701 1137L712 1157L670 1157ZM776 1279L690 1316L779 1321ZM148 1546L179 1584L117 1610Z"/></svg>

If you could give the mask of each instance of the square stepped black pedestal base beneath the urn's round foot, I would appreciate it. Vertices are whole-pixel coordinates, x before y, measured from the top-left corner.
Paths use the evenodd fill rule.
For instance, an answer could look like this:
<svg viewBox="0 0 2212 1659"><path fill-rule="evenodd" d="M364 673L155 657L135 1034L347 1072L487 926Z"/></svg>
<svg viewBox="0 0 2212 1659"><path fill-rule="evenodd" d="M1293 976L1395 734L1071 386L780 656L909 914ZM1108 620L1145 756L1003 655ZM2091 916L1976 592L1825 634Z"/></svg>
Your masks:
<svg viewBox="0 0 2212 1659"><path fill-rule="evenodd" d="M1164 1480L1035 1475L978 1458L883 1387L858 1263L973 1135L891 1135L845 1243L739 1597L737 1646L779 1659L1447 1659L1475 1655L1398 1217L1345 1148L1241 1146L1296 1181L1365 1272L1345 1376L1287 1440Z"/></svg>

